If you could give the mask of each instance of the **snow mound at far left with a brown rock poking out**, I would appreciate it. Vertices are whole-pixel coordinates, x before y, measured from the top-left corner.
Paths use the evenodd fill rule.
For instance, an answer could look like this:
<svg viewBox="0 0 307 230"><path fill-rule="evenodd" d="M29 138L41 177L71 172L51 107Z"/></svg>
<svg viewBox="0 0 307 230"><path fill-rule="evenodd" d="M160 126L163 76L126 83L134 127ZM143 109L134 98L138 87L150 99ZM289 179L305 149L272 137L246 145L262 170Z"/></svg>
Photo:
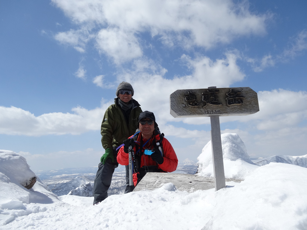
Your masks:
<svg viewBox="0 0 307 230"><path fill-rule="evenodd" d="M27 204L59 201L56 195L45 189L39 178L31 189L26 189L25 183L34 176L24 157L13 151L0 150L0 226L17 217L45 210L37 205L28 210Z"/></svg>

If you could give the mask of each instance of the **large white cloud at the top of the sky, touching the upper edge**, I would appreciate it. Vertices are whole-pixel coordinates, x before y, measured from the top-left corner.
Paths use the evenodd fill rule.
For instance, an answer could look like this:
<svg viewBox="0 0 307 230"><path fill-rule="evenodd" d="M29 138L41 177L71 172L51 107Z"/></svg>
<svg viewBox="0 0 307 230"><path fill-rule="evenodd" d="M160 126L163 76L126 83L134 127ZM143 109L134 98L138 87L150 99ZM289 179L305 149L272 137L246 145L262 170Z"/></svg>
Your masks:
<svg viewBox="0 0 307 230"><path fill-rule="evenodd" d="M115 63L142 56L138 34L151 33L168 46L211 48L239 36L266 33L269 14L251 13L248 2L230 0L52 0L87 33L95 36L97 48ZM96 31L93 29L103 27ZM65 44L84 48L84 29L56 35Z"/></svg>

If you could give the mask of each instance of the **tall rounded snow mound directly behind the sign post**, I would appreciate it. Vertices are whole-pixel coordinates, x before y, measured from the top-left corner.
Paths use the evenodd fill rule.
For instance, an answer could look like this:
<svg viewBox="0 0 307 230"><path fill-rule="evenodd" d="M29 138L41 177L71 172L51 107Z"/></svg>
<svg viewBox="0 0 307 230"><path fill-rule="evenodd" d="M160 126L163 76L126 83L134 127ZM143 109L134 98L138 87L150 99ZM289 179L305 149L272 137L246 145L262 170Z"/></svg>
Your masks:
<svg viewBox="0 0 307 230"><path fill-rule="evenodd" d="M226 178L241 179L254 171L258 165L250 160L245 144L236 133L221 134L223 163ZM199 176L213 177L212 147L209 141L198 156Z"/></svg>

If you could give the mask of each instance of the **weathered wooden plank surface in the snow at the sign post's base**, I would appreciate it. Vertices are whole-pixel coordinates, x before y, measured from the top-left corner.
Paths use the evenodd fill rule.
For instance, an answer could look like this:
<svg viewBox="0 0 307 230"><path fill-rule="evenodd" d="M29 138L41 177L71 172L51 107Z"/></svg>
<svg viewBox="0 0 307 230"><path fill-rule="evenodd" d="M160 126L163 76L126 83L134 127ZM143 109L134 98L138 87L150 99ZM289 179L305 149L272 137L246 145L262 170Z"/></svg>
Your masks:
<svg viewBox="0 0 307 230"><path fill-rule="evenodd" d="M226 181L241 182L234 179L226 179ZM200 177L197 174L147 173L133 191L155 190L169 182L173 183L178 190L189 193L214 188L213 177Z"/></svg>

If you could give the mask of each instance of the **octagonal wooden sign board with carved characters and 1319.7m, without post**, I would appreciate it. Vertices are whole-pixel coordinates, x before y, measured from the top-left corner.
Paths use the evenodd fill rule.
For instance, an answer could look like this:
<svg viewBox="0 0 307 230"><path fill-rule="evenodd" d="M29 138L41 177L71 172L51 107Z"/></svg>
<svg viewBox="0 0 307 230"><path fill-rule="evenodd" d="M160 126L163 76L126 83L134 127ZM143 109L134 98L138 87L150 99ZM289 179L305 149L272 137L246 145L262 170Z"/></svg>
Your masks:
<svg viewBox="0 0 307 230"><path fill-rule="evenodd" d="M176 90L169 96L173 117L238 116L259 111L250 87Z"/></svg>

